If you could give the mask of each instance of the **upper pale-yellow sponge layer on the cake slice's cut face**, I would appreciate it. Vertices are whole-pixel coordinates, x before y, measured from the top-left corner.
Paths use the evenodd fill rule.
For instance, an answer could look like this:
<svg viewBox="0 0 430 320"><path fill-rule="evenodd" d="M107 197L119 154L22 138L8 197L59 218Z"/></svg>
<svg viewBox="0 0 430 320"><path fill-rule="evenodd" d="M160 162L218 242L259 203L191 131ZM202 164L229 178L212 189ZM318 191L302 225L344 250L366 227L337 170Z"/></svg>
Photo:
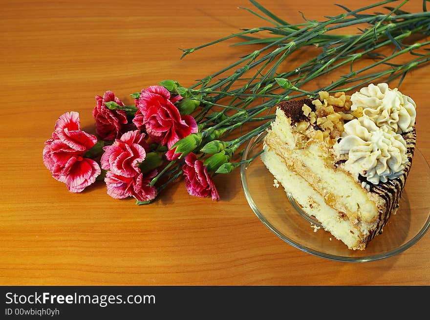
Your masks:
<svg viewBox="0 0 430 320"><path fill-rule="evenodd" d="M376 204L369 200L361 184L348 173L333 170L333 164L327 161L328 154L320 148L320 144L312 143L308 148L295 149L295 134L291 131L290 120L282 110L278 110L266 143L285 159L290 170L297 171L314 185L328 204L345 213L352 223L360 223L363 233L367 233L379 217Z"/></svg>

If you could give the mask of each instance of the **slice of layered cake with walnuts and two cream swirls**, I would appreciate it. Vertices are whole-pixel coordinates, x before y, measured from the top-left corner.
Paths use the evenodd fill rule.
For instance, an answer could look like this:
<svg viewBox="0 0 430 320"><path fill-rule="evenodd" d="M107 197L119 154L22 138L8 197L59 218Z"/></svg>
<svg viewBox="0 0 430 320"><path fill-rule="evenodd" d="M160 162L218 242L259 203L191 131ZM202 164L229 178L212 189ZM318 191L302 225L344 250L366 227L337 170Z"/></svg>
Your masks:
<svg viewBox="0 0 430 320"><path fill-rule="evenodd" d="M277 106L261 159L302 210L349 249L381 234L415 147L411 98L387 84Z"/></svg>

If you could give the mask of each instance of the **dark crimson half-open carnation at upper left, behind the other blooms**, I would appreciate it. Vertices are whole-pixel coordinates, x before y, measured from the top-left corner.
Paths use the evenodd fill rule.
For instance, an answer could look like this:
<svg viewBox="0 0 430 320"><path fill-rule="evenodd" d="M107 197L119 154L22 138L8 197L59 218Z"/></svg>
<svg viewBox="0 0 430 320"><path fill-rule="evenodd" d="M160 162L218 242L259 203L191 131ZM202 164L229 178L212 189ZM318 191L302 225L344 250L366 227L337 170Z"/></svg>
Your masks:
<svg viewBox="0 0 430 320"><path fill-rule="evenodd" d="M106 91L103 97L96 96L96 106L92 111L96 121L96 132L103 140L113 140L121 134L121 126L127 124L126 112L123 110L110 110L105 102L114 101L124 106L122 101L115 97L112 91Z"/></svg>

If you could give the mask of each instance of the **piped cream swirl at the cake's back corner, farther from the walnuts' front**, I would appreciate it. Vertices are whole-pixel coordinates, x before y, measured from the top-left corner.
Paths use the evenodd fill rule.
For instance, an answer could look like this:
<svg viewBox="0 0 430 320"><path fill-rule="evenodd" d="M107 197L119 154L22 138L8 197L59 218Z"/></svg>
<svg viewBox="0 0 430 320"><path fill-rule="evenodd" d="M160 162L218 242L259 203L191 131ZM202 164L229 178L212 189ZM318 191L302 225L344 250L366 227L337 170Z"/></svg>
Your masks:
<svg viewBox="0 0 430 320"><path fill-rule="evenodd" d="M361 88L360 92L352 94L351 101L352 111L362 107L363 114L378 127L387 125L395 133L403 133L415 125L415 102L397 88L390 89L387 84L370 84Z"/></svg>

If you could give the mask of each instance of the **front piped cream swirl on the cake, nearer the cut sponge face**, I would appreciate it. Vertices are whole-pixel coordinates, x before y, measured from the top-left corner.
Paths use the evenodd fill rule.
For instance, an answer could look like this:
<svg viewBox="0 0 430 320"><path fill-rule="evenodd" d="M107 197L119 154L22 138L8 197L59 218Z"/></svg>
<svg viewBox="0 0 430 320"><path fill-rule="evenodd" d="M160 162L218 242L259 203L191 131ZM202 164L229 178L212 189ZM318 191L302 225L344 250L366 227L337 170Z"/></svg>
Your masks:
<svg viewBox="0 0 430 320"><path fill-rule="evenodd" d="M403 137L388 126L378 128L366 115L344 125L335 149L340 155L348 154L345 170L373 184L398 177L408 163Z"/></svg>

